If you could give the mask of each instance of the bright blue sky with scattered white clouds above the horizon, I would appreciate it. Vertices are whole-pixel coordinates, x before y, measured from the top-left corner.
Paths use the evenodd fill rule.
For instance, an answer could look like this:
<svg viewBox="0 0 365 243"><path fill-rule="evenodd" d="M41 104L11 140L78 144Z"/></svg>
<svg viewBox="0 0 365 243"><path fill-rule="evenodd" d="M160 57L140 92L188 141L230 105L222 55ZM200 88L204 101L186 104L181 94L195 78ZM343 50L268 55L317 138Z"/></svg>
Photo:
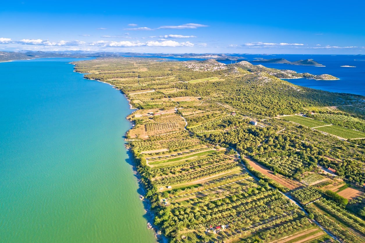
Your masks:
<svg viewBox="0 0 365 243"><path fill-rule="evenodd" d="M364 1L0 4L0 50L365 54Z"/></svg>

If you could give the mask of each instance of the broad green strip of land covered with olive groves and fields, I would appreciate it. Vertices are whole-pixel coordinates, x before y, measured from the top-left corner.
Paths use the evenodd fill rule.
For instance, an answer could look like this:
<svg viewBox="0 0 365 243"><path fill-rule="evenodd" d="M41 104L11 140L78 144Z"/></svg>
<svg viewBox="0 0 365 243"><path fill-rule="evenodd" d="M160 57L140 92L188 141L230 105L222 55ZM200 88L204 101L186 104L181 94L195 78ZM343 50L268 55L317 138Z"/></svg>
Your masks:
<svg viewBox="0 0 365 243"><path fill-rule="evenodd" d="M365 242L364 96L246 61L73 64L137 108L126 140L158 239Z"/></svg>

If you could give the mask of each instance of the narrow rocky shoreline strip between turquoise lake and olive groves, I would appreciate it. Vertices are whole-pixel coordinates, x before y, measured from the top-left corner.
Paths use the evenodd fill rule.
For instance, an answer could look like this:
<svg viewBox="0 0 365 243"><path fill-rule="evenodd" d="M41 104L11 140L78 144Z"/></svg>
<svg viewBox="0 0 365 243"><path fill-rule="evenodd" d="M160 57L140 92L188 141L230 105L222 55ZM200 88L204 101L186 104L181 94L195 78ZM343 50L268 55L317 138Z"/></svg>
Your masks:
<svg viewBox="0 0 365 243"><path fill-rule="evenodd" d="M73 65L74 67L76 66L76 64L74 64L74 63L72 63L72 62L69 62L69 64L71 64L71 65ZM75 69L73 70L73 72L75 72L75 73L80 73L80 72L77 72ZM80 73L80 74L88 74L88 73ZM130 107L130 109L132 110L128 115L127 115L127 117L128 116L130 116L134 111L136 111L136 110L138 110L138 108L134 108L133 106L132 106L132 104L131 104L131 100L130 99L128 99L127 98L127 96L126 96L126 94L124 94L123 93L123 91L121 90L121 89L118 89L115 85L112 85L112 84L110 84L110 83L108 83L108 82L104 82L104 81L100 81L100 80L97 80L97 79L90 79L90 78L85 78L85 75L84 75L84 77L83 77L84 79L86 79L86 80L94 80L94 81L97 81L97 82L101 82L101 83L104 83L104 84L108 84L108 85L110 85L110 86L112 86L114 89L117 89L117 90L119 90L119 92L125 97L125 99L128 101L128 104L129 104L129 107ZM132 150L131 150L131 148L129 147L129 145L128 145L128 140L125 138L125 135L131 130L131 129L133 129L133 127L135 126L134 125L134 123L130 120L130 119L128 119L127 117L125 117L126 118L126 120L128 120L128 122L131 124L131 128L130 129L128 129L127 131L126 131L126 133L124 134L124 147L126 148L126 152L127 152L127 154L128 154L128 157L134 162L134 164L132 165L132 170L133 170L133 173L134 173L134 175L135 175L135 177L137 178L137 182L138 182L138 185L139 185L139 188L141 188L141 190L142 190L142 192L143 192L143 195L139 195L139 197L140 197L140 199L141 199L141 201L142 201L142 204L143 204L143 207L144 207L144 209L145 209L145 212L146 212L146 215L148 216L148 217L146 217L147 218L147 228L149 228L148 227L148 225L151 225L151 228L149 228L149 229L151 229L152 231L153 231L153 233L154 233L154 235L155 235L155 239L157 240L157 242L167 242L166 241L166 238L165 238L165 236L163 236L161 233L159 234L159 229L157 228L157 226L156 225L154 225L154 217L155 217L155 215L154 215L154 213L151 211L151 202L145 197L145 194L146 194L146 187L145 187L145 185L142 183L142 176L141 176L141 174L138 172L138 170L137 170L137 167L136 167L136 163L135 163L135 159L136 159L136 157L134 156L134 154L133 154L133 152L132 152ZM143 196L143 197L142 197Z"/></svg>

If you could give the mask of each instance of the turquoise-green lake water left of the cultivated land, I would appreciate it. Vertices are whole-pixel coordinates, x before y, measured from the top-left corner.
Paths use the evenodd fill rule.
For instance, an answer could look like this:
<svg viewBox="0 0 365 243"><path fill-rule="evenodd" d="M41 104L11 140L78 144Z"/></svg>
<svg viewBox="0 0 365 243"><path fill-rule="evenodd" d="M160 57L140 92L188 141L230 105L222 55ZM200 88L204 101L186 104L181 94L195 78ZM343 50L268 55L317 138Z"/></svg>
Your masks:
<svg viewBox="0 0 365 243"><path fill-rule="evenodd" d="M0 63L0 242L156 242L126 98L71 61Z"/></svg>

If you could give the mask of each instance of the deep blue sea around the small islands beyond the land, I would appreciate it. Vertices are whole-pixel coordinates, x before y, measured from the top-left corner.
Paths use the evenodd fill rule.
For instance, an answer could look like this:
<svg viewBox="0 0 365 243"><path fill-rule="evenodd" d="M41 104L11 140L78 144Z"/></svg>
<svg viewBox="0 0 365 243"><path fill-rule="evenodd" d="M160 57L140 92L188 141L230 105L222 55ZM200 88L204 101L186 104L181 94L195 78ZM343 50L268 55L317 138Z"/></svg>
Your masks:
<svg viewBox="0 0 365 243"><path fill-rule="evenodd" d="M266 67L276 69L290 69L298 73L311 74L330 74L338 77L339 80L312 80L307 78L289 79L287 81L313 89L326 90L338 93L351 93L365 96L365 55L294 55L294 54L232 54L232 56L246 57L239 61L254 61L258 58L272 59L285 58L288 61L297 61L305 59L314 59L325 67L308 66L308 65L288 65L280 63L260 63L253 62L254 65L264 65ZM143 56L145 57L145 56ZM189 61L189 60L205 60L202 58L177 58L177 57L160 57L153 56L150 58L165 58L169 61ZM235 61L219 61L230 64ZM355 67L341 67L341 66Z"/></svg>

